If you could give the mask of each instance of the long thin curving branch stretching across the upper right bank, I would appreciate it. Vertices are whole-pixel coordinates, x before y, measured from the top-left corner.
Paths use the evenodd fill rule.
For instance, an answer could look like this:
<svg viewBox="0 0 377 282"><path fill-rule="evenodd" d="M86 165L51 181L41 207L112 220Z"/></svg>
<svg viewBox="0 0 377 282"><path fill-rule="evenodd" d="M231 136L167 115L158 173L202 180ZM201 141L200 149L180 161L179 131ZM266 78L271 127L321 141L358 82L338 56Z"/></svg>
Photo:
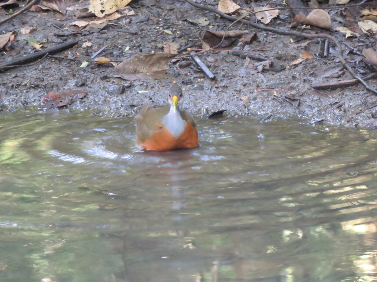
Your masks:
<svg viewBox="0 0 377 282"><path fill-rule="evenodd" d="M196 8L199 8L199 9L204 9L206 11L210 11L210 12L213 12L219 16L221 16L222 18L225 18L227 20L231 20L231 21L236 21L236 20L239 20L238 18L236 17L233 17L233 16L230 16L230 15L227 15L215 8L212 8L210 6L205 6L205 5L201 5L201 4L198 4L198 3L195 3L193 2L192 0L185 0L187 3L189 3L190 5L196 7ZM257 24L257 23L254 23L253 21L245 21L245 20L242 20L242 22L245 22L245 23L248 23L250 26L253 26L257 29L262 29L262 30L265 30L265 31L269 31L269 32L273 32L273 33L278 33L278 34L282 34L282 35L291 35L291 36L303 36L305 38L327 38L331 41L333 41L339 51L339 56L338 56L338 59L339 61L342 63L343 67L345 67L346 70L348 70L348 72L354 77L356 78L357 80L359 80L360 83L362 83L362 85L364 85L364 87L366 89L368 89L369 91L373 92L374 94L377 94L377 89L374 89L372 88L371 86L368 85L368 83L366 83L360 76L358 76L353 70L352 68L347 64L346 60L343 58L342 56L342 53L343 53L343 49L342 49L342 45L340 45L339 41L337 41L336 38L334 38L333 36L331 35L328 35L326 33L319 33L319 34L310 34L310 33L303 33L303 32L297 32L297 31L286 31L286 30L280 30L280 29L275 29L273 27L267 27L267 26L262 26L261 24Z"/></svg>

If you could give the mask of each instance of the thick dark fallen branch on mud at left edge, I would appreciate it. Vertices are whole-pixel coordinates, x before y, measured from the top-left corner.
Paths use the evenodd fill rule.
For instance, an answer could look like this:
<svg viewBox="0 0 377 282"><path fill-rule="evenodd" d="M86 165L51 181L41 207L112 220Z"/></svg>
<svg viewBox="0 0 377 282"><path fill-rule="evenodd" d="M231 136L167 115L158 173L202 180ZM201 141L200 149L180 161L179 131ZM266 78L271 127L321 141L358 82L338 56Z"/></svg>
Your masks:
<svg viewBox="0 0 377 282"><path fill-rule="evenodd" d="M26 56L23 56L23 57L2 63L2 64L0 64L0 72L3 72L5 70L9 70L11 68L18 67L19 65L27 64L29 62L34 62L38 59L43 58L46 55L52 55L52 54L59 53L59 52L64 51L64 50L66 50L70 47L75 46L76 44L78 44L78 40L65 42L63 44L60 44L60 45L57 45L57 46L54 46L54 47L50 47L50 48L41 50L39 52L35 52L35 53L30 54L30 55L26 55Z"/></svg>

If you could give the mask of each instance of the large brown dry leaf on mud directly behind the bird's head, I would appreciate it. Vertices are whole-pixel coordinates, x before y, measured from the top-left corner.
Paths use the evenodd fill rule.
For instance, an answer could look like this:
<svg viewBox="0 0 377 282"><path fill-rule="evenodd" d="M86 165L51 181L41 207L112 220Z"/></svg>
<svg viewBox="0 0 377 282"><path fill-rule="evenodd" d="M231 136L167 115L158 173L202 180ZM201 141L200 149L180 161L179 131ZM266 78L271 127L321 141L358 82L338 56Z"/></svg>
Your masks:
<svg viewBox="0 0 377 282"><path fill-rule="evenodd" d="M155 53L137 55L121 62L115 67L115 77L126 80L147 80L162 76L169 70L174 54Z"/></svg>

